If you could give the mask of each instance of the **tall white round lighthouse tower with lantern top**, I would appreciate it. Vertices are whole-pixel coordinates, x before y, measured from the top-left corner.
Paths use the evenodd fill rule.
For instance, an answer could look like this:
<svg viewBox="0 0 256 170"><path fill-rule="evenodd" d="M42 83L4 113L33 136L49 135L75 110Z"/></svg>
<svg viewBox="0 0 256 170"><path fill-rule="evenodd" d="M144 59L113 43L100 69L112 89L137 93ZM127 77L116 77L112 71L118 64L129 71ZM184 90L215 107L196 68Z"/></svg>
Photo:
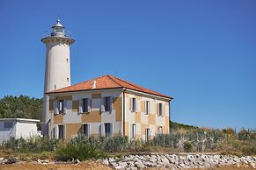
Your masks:
<svg viewBox="0 0 256 170"><path fill-rule="evenodd" d="M42 134L48 134L49 97L45 94L55 89L70 86L70 56L69 47L75 42L58 19L52 26L52 32L47 37L41 39L46 44L46 67L44 99L42 112Z"/></svg>

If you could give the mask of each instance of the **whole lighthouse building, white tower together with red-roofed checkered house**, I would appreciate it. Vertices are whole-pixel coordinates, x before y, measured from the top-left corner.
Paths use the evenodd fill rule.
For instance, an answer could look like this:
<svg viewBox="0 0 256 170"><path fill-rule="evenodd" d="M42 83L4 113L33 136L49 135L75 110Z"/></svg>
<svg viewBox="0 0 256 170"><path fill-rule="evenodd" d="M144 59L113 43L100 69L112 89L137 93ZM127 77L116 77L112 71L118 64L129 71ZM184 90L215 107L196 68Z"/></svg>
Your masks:
<svg viewBox="0 0 256 170"><path fill-rule="evenodd" d="M149 139L169 132L172 97L105 75L70 86L69 46L74 42L57 20L42 39L47 46L42 133L70 139L125 135Z"/></svg>

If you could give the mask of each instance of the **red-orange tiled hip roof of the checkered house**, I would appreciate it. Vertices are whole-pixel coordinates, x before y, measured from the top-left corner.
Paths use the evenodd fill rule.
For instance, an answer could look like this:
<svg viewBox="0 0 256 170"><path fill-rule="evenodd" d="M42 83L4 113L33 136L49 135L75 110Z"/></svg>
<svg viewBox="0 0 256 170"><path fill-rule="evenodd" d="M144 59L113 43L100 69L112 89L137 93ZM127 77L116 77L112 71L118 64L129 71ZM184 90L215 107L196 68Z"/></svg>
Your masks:
<svg viewBox="0 0 256 170"><path fill-rule="evenodd" d="M100 76L98 78L95 78L89 81L80 82L78 84L71 85L66 88L55 89L53 91L48 92L47 94L91 90L94 81L96 81L96 87L94 89L119 89L119 88L133 89L143 93L148 93L155 96L164 96L172 99L171 96L165 96L151 89L146 89L134 83L121 80L120 78L114 77L113 75Z"/></svg>

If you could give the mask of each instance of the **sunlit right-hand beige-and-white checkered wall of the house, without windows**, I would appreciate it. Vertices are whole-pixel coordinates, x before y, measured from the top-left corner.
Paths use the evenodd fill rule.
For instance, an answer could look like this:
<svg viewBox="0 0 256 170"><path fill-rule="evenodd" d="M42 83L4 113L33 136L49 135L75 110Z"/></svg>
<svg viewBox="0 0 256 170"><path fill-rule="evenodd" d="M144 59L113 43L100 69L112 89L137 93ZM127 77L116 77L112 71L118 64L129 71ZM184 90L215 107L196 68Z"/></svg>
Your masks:
<svg viewBox="0 0 256 170"><path fill-rule="evenodd" d="M138 99L138 110L131 111L130 99ZM145 101L150 101L150 113L145 114ZM157 103L164 104L164 116L157 116ZM161 97L146 96L135 92L125 94L125 134L131 137L131 124L136 124L136 139L145 139L145 129L150 128L151 138L157 134L157 127L162 126L163 133L169 133L169 100Z"/></svg>

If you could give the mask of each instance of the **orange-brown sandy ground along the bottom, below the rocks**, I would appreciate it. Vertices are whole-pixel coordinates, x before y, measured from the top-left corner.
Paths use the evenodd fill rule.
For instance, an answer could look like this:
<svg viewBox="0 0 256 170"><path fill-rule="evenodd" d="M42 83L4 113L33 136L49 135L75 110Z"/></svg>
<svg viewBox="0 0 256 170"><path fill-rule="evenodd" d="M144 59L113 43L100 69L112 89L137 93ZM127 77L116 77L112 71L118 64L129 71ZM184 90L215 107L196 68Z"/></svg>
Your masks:
<svg viewBox="0 0 256 170"><path fill-rule="evenodd" d="M100 169L100 170L110 170L112 168L108 166L104 166L97 162L93 161L85 161L82 164L48 164L48 165L40 165L36 162L34 163L18 163L11 165L0 165L0 170L92 170L92 169ZM165 170L166 168L147 168L147 170ZM216 168L208 168L208 169L189 169L189 170L255 170L255 168L251 167L237 167L237 166L224 166L224 167L216 167Z"/></svg>

